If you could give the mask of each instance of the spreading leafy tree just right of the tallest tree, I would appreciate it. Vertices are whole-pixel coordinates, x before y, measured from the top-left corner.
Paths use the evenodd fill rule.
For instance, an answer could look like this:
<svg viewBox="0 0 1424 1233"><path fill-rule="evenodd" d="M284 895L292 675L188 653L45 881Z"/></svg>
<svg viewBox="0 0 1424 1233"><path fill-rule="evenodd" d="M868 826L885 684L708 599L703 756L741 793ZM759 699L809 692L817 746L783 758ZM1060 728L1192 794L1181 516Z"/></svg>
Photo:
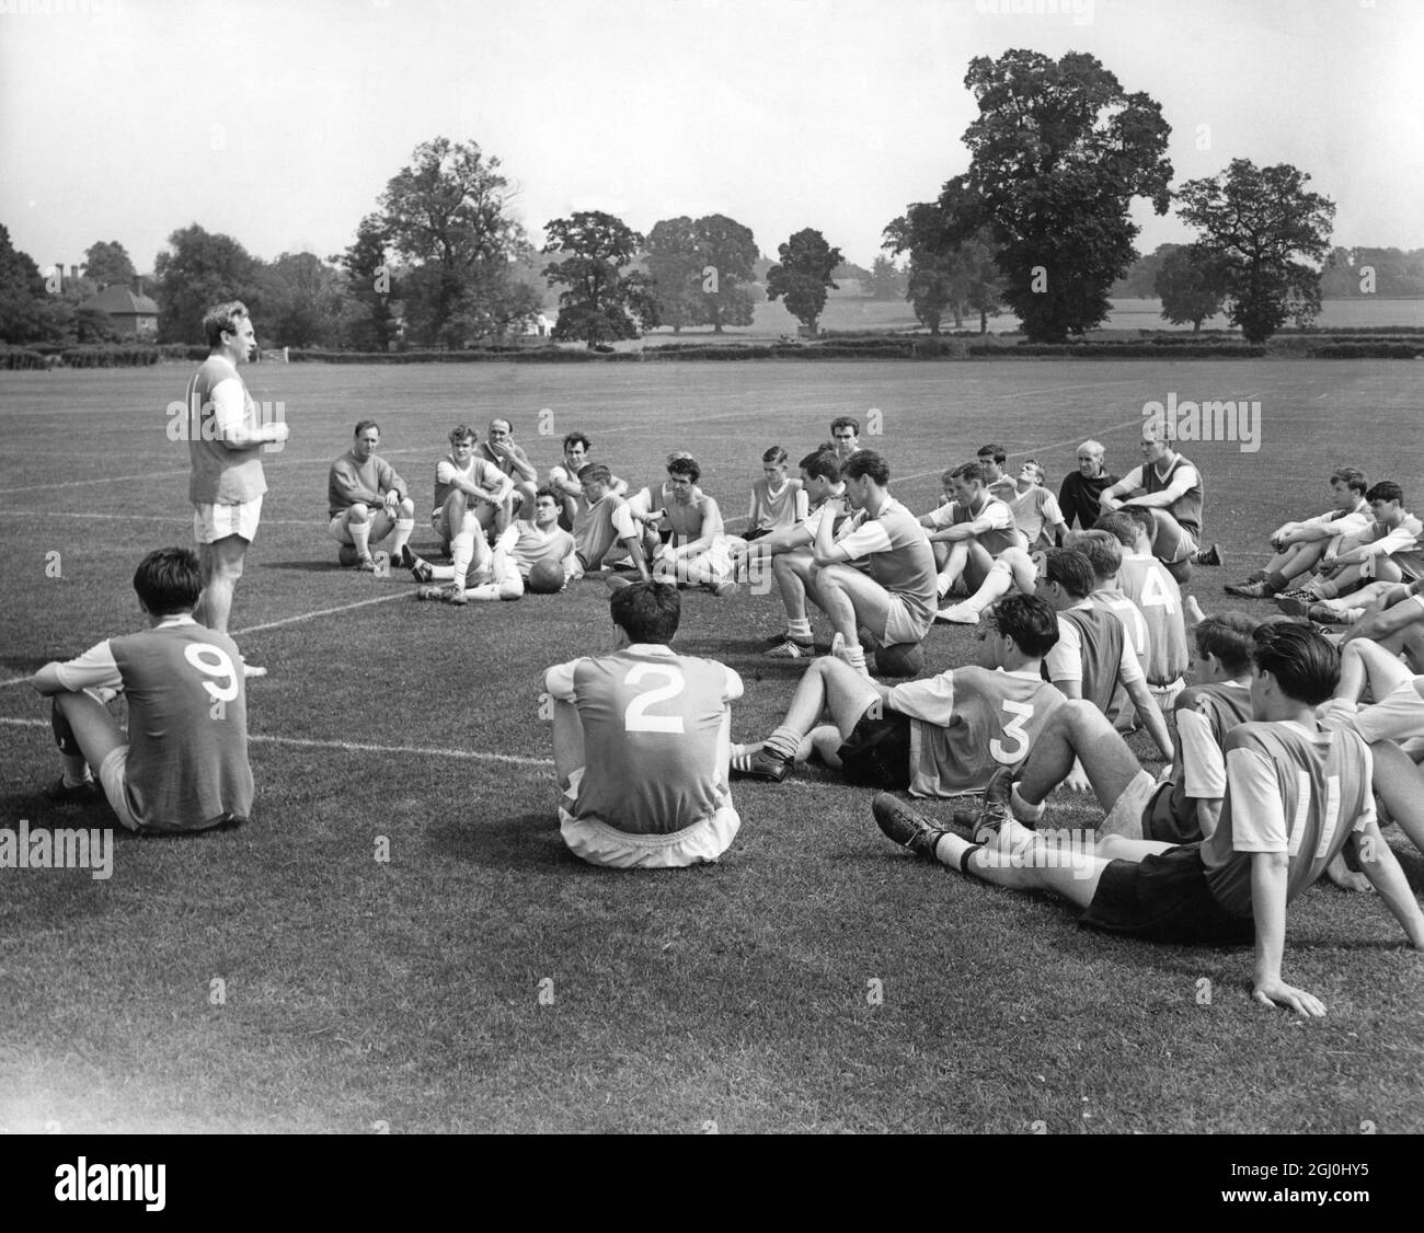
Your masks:
<svg viewBox="0 0 1424 1233"><path fill-rule="evenodd" d="M1200 229L1198 246L1223 269L1230 320L1247 342L1265 342L1287 319L1309 325L1320 312L1320 272L1297 258L1330 251L1334 202L1307 192L1310 177L1279 164L1233 158L1220 175L1178 192L1182 218Z"/></svg>

